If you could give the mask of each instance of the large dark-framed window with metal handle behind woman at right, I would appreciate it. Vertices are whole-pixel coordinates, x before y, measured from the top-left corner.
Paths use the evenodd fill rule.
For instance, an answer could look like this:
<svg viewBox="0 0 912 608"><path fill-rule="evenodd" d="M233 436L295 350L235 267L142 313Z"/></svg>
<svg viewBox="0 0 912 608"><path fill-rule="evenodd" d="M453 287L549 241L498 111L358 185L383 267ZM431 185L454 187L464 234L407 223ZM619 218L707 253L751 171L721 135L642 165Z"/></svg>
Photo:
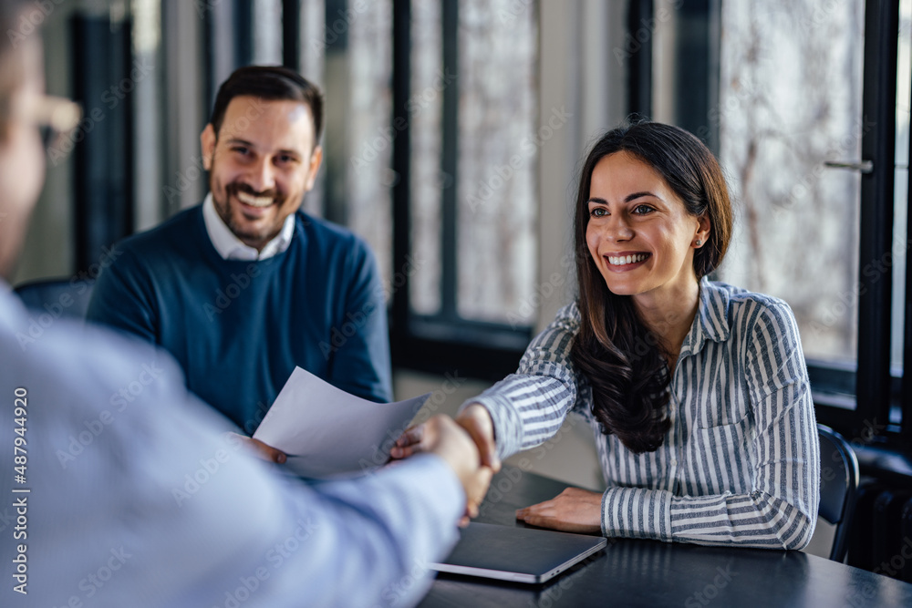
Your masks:
<svg viewBox="0 0 912 608"><path fill-rule="evenodd" d="M901 445L912 438L912 3L630 7L630 31L653 34L631 63L631 110L697 133L731 187L736 232L712 278L792 306L819 421Z"/></svg>

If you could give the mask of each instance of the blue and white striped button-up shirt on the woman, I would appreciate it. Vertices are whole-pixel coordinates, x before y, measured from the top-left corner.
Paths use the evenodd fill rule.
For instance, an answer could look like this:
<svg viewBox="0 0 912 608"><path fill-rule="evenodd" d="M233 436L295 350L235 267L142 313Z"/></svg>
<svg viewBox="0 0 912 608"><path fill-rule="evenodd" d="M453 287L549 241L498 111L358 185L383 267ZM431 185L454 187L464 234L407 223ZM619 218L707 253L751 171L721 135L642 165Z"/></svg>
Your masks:
<svg viewBox="0 0 912 608"><path fill-rule="evenodd" d="M782 300L700 282L669 386L671 428L654 452L604 435L570 347L576 304L529 345L519 369L470 403L491 412L501 458L589 421L607 489L606 536L800 549L814 533L820 446L798 328Z"/></svg>

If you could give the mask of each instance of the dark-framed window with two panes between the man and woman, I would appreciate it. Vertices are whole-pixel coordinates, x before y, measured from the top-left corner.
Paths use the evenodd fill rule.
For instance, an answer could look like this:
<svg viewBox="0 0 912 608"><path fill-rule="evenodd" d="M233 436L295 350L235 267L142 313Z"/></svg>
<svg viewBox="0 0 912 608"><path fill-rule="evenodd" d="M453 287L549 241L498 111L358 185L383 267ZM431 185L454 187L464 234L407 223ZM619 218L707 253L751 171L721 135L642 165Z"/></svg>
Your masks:
<svg viewBox="0 0 912 608"><path fill-rule="evenodd" d="M393 11L394 361L499 378L531 338L536 150L520 144L534 140L537 12Z"/></svg>

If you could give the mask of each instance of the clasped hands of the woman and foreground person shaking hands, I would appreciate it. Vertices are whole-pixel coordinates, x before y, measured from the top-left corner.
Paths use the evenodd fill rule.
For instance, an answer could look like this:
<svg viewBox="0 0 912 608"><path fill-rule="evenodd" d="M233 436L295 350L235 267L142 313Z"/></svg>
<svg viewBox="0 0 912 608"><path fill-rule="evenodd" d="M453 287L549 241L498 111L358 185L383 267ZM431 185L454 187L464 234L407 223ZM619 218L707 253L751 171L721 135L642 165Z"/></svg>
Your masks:
<svg viewBox="0 0 912 608"><path fill-rule="evenodd" d="M492 475L501 469L488 410L472 404L455 420L438 415L408 428L390 450L390 457L407 459L424 452L440 456L459 478L466 497L460 525L467 525L469 518L478 515Z"/></svg>

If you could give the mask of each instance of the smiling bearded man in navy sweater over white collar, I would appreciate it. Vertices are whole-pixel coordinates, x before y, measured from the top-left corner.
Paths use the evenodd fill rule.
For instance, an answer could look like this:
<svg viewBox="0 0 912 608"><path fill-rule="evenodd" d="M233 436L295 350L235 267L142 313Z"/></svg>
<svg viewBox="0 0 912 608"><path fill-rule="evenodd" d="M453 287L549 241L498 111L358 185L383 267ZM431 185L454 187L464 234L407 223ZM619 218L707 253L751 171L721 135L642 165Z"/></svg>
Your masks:
<svg viewBox="0 0 912 608"><path fill-rule="evenodd" d="M295 366L359 397L391 397L374 256L300 211L323 157L322 124L322 95L305 78L285 67L235 71L202 131L209 195L120 243L89 306L90 320L170 351L191 390L247 435Z"/></svg>

